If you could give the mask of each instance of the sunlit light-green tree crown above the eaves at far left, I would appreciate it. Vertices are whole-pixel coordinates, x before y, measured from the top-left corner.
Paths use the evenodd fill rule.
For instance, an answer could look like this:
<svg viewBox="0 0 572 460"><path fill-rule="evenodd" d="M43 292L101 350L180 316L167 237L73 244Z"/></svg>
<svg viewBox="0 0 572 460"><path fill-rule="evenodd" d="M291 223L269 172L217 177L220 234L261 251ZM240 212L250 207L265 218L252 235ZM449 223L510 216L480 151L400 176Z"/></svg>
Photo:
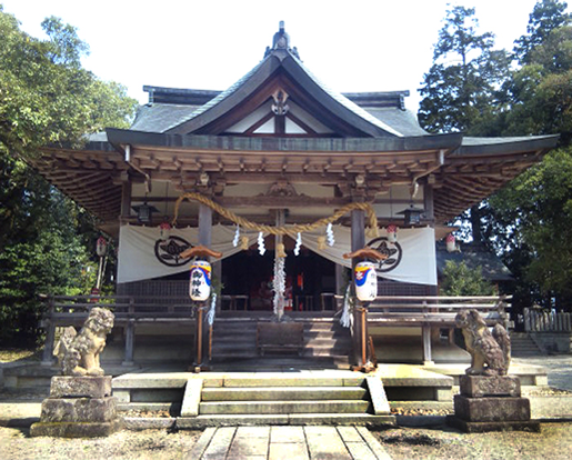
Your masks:
<svg viewBox="0 0 572 460"><path fill-rule="evenodd" d="M123 87L81 68L88 47L73 27L53 17L42 26L44 41L22 32L0 6L0 151L11 156L30 157L50 143L79 144L106 126L127 127L137 106Z"/></svg>

